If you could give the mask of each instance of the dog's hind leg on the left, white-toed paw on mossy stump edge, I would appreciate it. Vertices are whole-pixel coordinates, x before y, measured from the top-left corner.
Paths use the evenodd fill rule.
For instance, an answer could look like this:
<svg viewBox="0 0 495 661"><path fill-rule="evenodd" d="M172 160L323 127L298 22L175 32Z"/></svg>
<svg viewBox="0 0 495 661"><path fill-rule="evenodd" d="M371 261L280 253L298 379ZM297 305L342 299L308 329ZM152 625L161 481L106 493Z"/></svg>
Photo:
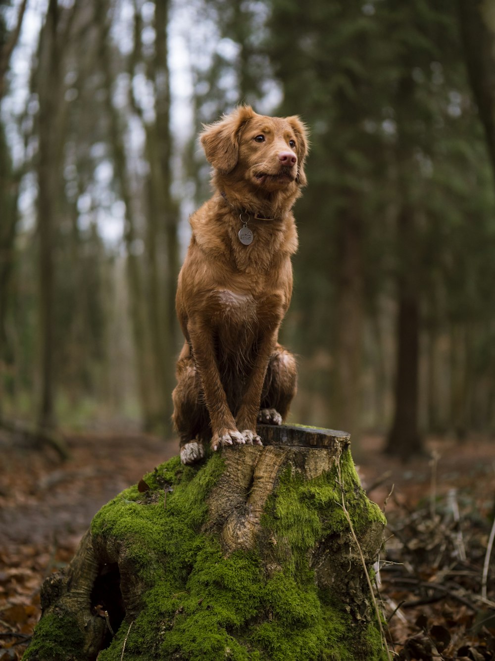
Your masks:
<svg viewBox="0 0 495 661"><path fill-rule="evenodd" d="M180 461L194 463L204 457L201 442L209 427L201 380L194 366L187 342L180 352L176 368L177 385L172 393L172 422L180 436Z"/></svg>

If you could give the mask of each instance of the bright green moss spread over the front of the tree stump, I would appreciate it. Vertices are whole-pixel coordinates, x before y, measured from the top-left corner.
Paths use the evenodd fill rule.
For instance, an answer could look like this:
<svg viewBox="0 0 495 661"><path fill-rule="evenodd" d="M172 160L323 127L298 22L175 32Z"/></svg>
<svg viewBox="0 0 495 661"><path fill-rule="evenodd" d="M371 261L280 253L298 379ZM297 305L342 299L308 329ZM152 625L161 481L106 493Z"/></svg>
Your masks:
<svg viewBox="0 0 495 661"><path fill-rule="evenodd" d="M196 467L174 457L145 475L149 491L133 486L96 514L93 534L121 540L126 559L149 586L132 628L124 621L98 661L120 660L126 637L126 661L384 659L376 627L355 621L319 591L309 567L308 551L317 541L348 531L336 469L309 482L290 469L282 475L262 518L274 535L269 575L258 551L223 557L219 542L201 531L205 499L222 471L219 454ZM382 522L348 451L341 479L356 533L370 520ZM52 658L59 657L46 657Z"/></svg>

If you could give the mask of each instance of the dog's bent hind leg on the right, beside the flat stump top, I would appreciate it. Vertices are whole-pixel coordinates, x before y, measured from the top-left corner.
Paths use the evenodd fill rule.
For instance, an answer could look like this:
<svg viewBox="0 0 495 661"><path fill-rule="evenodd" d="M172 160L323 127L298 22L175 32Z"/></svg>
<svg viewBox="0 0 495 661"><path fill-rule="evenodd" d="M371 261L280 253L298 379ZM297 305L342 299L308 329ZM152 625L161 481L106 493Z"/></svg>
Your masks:
<svg viewBox="0 0 495 661"><path fill-rule="evenodd" d="M295 358L283 346L277 344L266 370L258 422L282 424L287 418L296 390Z"/></svg>

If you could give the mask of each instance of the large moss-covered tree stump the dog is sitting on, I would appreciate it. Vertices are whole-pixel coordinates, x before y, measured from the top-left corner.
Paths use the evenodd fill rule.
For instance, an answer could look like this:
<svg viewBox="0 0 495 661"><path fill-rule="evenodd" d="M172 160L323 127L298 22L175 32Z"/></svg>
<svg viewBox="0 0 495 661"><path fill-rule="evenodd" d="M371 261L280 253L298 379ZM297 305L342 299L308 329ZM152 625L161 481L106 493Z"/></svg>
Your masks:
<svg viewBox="0 0 495 661"><path fill-rule="evenodd" d="M173 457L106 504L44 582L24 660L387 658L363 569L385 518L349 435L258 433L263 447Z"/></svg>

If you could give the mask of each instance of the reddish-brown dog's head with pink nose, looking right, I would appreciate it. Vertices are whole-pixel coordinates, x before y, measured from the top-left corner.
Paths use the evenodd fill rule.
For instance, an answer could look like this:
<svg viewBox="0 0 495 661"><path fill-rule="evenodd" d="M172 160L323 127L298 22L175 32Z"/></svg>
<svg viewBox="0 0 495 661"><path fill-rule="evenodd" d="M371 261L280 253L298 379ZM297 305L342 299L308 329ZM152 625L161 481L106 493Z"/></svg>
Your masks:
<svg viewBox="0 0 495 661"><path fill-rule="evenodd" d="M307 130L297 116L258 115L239 106L205 126L201 143L220 175L232 175L266 192L305 186Z"/></svg>

